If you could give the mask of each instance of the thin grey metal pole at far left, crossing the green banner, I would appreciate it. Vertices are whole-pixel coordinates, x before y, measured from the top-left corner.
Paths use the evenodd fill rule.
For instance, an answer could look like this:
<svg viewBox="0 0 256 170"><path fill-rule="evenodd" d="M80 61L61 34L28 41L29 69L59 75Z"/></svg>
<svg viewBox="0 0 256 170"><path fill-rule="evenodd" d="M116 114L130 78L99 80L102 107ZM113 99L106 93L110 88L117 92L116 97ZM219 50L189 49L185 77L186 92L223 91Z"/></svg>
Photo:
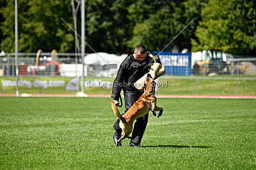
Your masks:
<svg viewBox="0 0 256 170"><path fill-rule="evenodd" d="M15 65L16 65L16 96L19 96L18 0L15 0Z"/></svg>

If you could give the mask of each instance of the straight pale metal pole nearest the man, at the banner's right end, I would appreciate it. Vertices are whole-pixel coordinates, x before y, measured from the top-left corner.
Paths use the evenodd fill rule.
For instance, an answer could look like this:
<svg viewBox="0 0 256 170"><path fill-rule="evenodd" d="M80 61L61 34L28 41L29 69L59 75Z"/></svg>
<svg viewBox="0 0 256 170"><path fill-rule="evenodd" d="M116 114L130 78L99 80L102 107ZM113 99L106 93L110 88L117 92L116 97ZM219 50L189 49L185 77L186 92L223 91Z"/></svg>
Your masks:
<svg viewBox="0 0 256 170"><path fill-rule="evenodd" d="M81 4L81 52L82 52L82 66L83 66L83 71L82 71L82 94L84 94L84 0L82 0Z"/></svg>

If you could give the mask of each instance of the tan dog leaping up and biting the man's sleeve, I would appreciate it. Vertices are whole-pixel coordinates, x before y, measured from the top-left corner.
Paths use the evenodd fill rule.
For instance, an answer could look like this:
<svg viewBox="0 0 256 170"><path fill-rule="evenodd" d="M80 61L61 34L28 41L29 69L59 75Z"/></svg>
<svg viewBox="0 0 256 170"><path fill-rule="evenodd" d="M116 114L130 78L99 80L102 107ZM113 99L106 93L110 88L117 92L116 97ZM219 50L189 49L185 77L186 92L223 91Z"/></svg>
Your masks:
<svg viewBox="0 0 256 170"><path fill-rule="evenodd" d="M120 112L116 108L115 102L113 100L111 101L111 108L115 113L116 117L120 119L119 125L123 131L122 137L116 142L116 147L123 139L131 139L129 134L131 134L132 132L132 125L136 118L143 117L143 115L146 115L151 109L152 113L155 116L156 111L160 111L158 117L162 115L163 108L156 106L155 87L156 82L154 81L154 79L152 79L150 74L148 74L148 77L146 78L144 84L144 93L142 94L140 99L138 99L138 101L136 101L136 103L134 103L123 116L120 115Z"/></svg>

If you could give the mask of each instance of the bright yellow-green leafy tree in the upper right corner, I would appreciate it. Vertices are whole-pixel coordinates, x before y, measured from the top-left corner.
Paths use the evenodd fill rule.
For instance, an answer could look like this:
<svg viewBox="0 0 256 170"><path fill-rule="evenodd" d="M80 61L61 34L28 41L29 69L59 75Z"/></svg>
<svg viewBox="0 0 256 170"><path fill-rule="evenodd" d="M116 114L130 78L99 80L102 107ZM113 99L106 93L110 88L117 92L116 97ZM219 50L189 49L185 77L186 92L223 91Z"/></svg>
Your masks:
<svg viewBox="0 0 256 170"><path fill-rule="evenodd" d="M191 39L193 51L220 49L234 55L256 53L256 2L209 0Z"/></svg>

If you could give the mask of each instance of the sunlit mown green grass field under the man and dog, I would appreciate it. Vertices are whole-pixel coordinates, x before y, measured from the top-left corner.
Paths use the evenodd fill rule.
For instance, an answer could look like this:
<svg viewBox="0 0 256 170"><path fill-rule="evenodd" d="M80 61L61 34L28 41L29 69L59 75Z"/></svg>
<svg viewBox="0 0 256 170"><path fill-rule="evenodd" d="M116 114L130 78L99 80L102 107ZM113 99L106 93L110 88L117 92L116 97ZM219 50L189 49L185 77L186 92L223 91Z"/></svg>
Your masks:
<svg viewBox="0 0 256 170"><path fill-rule="evenodd" d="M115 148L109 98L0 97L1 169L255 169L255 99L157 99L138 148ZM102 111L102 113L100 113ZM121 108L120 111L124 111ZM63 152L61 150L100 113Z"/></svg>

